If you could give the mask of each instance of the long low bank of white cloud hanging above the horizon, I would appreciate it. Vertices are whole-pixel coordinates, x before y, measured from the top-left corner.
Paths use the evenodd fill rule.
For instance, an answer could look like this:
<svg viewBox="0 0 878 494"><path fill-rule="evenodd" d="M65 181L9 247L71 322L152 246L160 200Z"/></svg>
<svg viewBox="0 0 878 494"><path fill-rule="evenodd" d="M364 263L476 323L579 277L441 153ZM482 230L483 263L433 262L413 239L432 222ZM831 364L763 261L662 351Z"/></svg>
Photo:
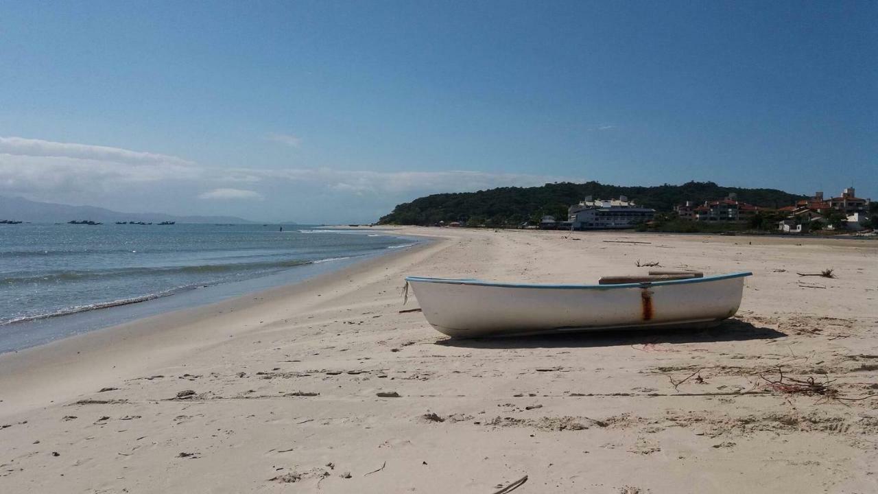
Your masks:
<svg viewBox="0 0 878 494"><path fill-rule="evenodd" d="M0 195L126 211L365 222L431 193L582 181L487 171L243 168L177 156L0 137Z"/></svg>

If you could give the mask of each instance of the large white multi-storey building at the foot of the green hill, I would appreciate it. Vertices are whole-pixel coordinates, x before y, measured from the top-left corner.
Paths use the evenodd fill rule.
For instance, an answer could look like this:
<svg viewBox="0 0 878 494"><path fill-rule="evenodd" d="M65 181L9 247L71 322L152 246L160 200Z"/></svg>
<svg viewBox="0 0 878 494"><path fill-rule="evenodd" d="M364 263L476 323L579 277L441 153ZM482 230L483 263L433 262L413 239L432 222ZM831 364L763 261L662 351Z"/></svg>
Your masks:
<svg viewBox="0 0 878 494"><path fill-rule="evenodd" d="M617 200L593 200L588 196L568 209L572 229L630 229L649 222L655 209L639 207L625 196Z"/></svg>

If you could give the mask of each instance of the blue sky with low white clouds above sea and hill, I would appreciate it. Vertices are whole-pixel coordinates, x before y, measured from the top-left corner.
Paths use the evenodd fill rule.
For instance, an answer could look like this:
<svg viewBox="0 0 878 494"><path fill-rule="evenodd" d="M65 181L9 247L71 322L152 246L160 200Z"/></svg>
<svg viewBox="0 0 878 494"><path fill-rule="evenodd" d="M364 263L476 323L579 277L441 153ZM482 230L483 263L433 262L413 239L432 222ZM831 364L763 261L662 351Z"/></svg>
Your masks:
<svg viewBox="0 0 878 494"><path fill-rule="evenodd" d="M6 1L0 195L303 223L555 181L878 200L876 60L866 1Z"/></svg>

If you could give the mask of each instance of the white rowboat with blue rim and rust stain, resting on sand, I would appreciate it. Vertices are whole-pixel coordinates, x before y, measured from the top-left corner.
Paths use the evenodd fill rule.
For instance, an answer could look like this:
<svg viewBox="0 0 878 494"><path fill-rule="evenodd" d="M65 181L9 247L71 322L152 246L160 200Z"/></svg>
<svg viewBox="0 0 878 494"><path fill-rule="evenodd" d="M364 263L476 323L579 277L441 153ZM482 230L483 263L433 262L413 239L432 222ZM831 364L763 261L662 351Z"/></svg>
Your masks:
<svg viewBox="0 0 878 494"><path fill-rule="evenodd" d="M436 331L477 338L623 328L708 328L738 312L744 278L750 275L614 277L601 279L598 285L418 276L406 281Z"/></svg>

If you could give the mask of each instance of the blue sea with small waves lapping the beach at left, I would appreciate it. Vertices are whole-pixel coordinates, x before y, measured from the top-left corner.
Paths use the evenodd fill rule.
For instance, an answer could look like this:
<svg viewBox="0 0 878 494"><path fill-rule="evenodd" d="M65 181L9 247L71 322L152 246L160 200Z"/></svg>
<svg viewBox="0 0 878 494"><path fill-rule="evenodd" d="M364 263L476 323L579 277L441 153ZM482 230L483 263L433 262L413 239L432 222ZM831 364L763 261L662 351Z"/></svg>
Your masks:
<svg viewBox="0 0 878 494"><path fill-rule="evenodd" d="M301 225L0 225L0 352L289 284L418 242Z"/></svg>

